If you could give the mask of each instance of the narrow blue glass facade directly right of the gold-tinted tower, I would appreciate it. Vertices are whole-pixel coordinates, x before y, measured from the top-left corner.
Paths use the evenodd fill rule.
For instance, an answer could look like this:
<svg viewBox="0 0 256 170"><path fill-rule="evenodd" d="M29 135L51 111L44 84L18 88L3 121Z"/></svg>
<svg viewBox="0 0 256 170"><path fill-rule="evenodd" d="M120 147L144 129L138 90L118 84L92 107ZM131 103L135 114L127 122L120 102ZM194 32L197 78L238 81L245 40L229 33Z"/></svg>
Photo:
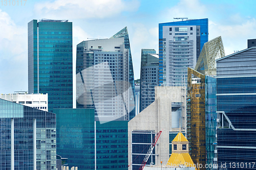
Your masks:
<svg viewBox="0 0 256 170"><path fill-rule="evenodd" d="M217 80L216 78L205 76L205 133L206 133L206 163L212 164L217 158ZM207 168L207 169L213 169Z"/></svg>

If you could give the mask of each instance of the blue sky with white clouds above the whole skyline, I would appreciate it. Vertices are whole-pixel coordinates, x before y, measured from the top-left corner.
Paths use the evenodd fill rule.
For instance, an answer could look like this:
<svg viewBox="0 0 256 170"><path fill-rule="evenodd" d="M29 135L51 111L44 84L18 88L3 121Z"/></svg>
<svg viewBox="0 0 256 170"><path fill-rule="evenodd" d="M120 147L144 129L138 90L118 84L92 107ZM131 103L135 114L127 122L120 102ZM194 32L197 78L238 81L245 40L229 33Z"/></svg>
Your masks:
<svg viewBox="0 0 256 170"><path fill-rule="evenodd" d="M141 48L158 51L158 23L178 21L174 17L208 18L209 40L222 36L226 55L243 50L247 39L256 38L254 0L27 0L25 6L20 1L19 6L17 1L7 6L0 2L0 93L28 90L27 24L32 19L73 22L74 64L76 44L109 38L127 26L135 79L140 77Z"/></svg>

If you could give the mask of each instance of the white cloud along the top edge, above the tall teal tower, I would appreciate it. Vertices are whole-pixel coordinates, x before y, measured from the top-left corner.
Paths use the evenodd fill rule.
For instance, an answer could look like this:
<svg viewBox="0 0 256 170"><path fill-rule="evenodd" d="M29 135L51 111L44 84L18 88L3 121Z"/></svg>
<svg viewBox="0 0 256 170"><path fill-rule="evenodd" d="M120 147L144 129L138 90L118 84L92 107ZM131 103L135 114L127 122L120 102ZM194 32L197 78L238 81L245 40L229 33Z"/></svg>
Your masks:
<svg viewBox="0 0 256 170"><path fill-rule="evenodd" d="M123 11L135 11L139 5L137 0L56 0L37 3L34 10L48 18L106 18Z"/></svg>

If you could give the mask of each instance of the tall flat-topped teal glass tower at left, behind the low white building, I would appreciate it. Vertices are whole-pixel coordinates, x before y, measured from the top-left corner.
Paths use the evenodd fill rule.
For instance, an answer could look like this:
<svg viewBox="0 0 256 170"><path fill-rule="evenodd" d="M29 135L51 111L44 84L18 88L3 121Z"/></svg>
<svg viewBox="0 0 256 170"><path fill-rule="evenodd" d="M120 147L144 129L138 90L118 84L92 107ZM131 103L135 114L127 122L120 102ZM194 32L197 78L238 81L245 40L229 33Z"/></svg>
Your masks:
<svg viewBox="0 0 256 170"><path fill-rule="evenodd" d="M73 107L72 22L28 23L29 93L48 93L49 111Z"/></svg>

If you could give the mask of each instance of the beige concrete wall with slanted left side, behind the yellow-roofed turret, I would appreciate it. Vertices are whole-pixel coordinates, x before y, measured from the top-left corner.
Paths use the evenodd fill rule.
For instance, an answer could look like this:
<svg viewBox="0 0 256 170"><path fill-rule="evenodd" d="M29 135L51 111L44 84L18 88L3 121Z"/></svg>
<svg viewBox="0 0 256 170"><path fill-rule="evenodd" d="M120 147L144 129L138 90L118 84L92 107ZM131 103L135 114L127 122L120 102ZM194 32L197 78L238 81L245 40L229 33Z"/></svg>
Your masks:
<svg viewBox="0 0 256 170"><path fill-rule="evenodd" d="M128 123L128 154L129 164L132 162L132 131L155 130L163 131L156 145L156 164L166 164L169 159L169 132L178 132L179 128L172 128L172 102L182 102L181 131L186 132L186 87L184 86L156 86L155 102L145 108ZM141 162L142 163L142 162ZM129 166L129 169L132 169Z"/></svg>

